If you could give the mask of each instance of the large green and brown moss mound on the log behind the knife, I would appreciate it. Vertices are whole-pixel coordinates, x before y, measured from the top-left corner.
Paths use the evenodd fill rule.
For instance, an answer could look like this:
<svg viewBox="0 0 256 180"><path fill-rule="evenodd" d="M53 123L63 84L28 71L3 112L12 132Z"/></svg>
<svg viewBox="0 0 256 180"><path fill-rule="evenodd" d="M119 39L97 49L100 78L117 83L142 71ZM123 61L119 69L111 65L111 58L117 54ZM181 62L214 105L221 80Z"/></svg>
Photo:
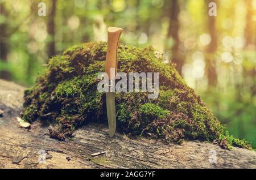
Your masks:
<svg viewBox="0 0 256 180"><path fill-rule="evenodd" d="M49 130L60 140L84 122L106 119L105 94L97 91L97 75L104 72L106 43L74 46L49 60L47 71L24 94L24 120L53 119L59 130ZM159 72L159 97L147 93L116 93L117 127L132 135L208 140L224 148L250 148L245 140L229 136L225 127L189 88L174 65L162 63L151 46L144 49L119 45L119 72Z"/></svg>

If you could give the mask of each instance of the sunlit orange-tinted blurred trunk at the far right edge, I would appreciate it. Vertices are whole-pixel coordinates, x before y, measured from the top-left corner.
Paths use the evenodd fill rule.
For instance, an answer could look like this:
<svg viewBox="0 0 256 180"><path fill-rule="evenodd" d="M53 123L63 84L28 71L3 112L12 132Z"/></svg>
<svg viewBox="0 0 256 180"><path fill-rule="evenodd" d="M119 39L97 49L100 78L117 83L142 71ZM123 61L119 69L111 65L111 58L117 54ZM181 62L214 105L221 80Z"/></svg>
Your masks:
<svg viewBox="0 0 256 180"><path fill-rule="evenodd" d="M255 45L253 42L253 37L255 36L255 22L253 20L254 9L253 1L246 0L246 26L245 26L245 43L246 46ZM256 15L256 14L255 14Z"/></svg>

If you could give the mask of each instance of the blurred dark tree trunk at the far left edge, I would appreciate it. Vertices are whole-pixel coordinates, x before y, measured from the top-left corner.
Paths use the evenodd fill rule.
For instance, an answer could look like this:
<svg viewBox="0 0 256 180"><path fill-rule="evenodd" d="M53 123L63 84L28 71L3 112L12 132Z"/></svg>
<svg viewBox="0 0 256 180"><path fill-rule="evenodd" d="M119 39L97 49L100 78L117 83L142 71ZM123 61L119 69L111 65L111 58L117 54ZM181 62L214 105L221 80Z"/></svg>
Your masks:
<svg viewBox="0 0 256 180"><path fill-rule="evenodd" d="M7 17L7 11L5 9L5 4L0 2L0 15ZM7 52L8 45L6 43L7 40L7 25L6 23L0 24L0 61L3 63L7 62ZM10 79L10 72L6 70L0 71L0 78L2 79Z"/></svg>

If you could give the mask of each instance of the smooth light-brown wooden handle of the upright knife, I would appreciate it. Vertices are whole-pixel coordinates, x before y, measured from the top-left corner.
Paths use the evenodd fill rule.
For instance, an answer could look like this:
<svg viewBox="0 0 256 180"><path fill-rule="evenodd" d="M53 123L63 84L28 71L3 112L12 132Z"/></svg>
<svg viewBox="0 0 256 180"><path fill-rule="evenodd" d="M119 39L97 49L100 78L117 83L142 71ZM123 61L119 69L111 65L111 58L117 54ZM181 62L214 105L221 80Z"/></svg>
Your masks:
<svg viewBox="0 0 256 180"><path fill-rule="evenodd" d="M114 80L117 74L117 50L122 30L122 28L108 28L108 50L106 54L105 72L109 75L109 80ZM114 77L110 76L110 68L115 68Z"/></svg>

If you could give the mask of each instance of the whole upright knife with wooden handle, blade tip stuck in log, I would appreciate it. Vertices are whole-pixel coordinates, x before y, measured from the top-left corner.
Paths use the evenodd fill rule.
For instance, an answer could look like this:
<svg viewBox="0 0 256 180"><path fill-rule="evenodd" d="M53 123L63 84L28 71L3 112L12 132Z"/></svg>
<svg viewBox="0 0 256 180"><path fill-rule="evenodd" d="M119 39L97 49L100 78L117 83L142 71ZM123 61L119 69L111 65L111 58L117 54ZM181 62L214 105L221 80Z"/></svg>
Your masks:
<svg viewBox="0 0 256 180"><path fill-rule="evenodd" d="M108 28L108 50L106 54L105 72L109 76L110 81L115 80L117 74L117 49L119 37L122 33L122 28L109 27ZM114 70L114 73L113 71ZM106 109L109 123L109 136L110 138L115 134L117 122L115 119L115 93L106 92Z"/></svg>

